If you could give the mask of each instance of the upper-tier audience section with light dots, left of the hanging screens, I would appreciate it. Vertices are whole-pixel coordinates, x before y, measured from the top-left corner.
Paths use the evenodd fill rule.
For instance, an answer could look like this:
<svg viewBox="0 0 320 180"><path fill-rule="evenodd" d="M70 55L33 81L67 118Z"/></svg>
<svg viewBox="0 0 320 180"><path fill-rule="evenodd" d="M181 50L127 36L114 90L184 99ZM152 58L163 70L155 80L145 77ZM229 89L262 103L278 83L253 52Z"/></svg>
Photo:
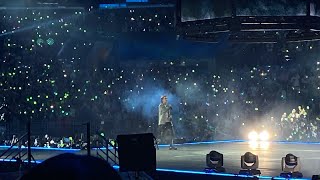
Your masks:
<svg viewBox="0 0 320 180"><path fill-rule="evenodd" d="M173 7L99 10L89 16L101 33L174 31Z"/></svg>

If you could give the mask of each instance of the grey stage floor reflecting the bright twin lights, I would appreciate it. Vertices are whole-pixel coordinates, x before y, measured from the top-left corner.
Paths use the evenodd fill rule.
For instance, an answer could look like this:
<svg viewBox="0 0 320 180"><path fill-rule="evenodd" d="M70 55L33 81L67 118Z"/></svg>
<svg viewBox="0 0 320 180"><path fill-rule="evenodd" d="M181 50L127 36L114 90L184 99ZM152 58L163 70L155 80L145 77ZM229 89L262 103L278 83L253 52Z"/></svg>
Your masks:
<svg viewBox="0 0 320 180"><path fill-rule="evenodd" d="M279 176L281 173L281 158L292 153L301 159L304 177L310 178L319 174L320 143L289 143L272 142L263 147L254 149L244 141L215 141L202 143L186 143L177 145L178 150L169 150L168 146L160 145L157 151L157 167L159 169L172 169L184 171L204 172L206 168L205 156L211 150L224 155L224 167L228 173L238 174L240 170L240 156L245 152L252 152L259 156L259 169L263 176ZM1 148L0 152L4 150ZM61 153L86 154L84 150L60 150L36 148L32 155L36 160L43 161ZM92 151L96 155L96 151Z"/></svg>

